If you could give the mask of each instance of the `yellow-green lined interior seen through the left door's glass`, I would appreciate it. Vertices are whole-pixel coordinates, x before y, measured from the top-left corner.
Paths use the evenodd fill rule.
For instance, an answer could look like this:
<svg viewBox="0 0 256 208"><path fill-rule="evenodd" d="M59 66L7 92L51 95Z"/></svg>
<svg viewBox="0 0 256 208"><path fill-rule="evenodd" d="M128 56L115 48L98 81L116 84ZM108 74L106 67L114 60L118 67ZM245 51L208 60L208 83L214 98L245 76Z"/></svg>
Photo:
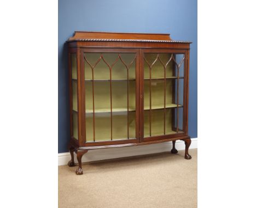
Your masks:
<svg viewBox="0 0 256 208"><path fill-rule="evenodd" d="M95 107L95 140L110 140L110 68L112 89L112 139L127 139L127 125L129 138L135 138L135 109L136 109L136 82L135 82L135 53L121 53L123 62L129 66L127 69L118 53L85 53L85 111L86 111L86 141L94 140L93 126L93 94L92 94L92 68L94 68L94 107ZM115 63L116 62L116 63ZM97 64L96 64L97 63ZM114 64L115 63L115 64ZM91 65L91 66L90 66ZM129 83L127 83L127 76ZM127 123L127 84L129 85L129 122Z"/></svg>

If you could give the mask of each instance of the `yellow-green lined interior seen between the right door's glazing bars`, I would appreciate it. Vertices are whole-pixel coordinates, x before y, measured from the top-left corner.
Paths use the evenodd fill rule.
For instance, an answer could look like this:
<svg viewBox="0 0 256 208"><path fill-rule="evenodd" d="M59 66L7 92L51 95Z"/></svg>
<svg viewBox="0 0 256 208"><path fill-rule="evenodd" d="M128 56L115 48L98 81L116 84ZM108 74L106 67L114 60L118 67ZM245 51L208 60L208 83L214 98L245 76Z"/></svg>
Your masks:
<svg viewBox="0 0 256 208"><path fill-rule="evenodd" d="M150 66L157 58L157 53L146 53L144 61L144 137L150 136ZM176 55L178 56L178 55ZM159 59L152 66L151 71L151 103L152 103L152 115L151 115L151 136L164 135L164 103L166 102L166 117L165 117L165 134L177 133L172 126L176 127L177 119L177 95L175 94L175 101L172 100L173 86L177 86L177 79L171 78L177 76L177 66L174 66L173 60L168 64L168 60L171 58L170 53L159 53ZM164 65L163 65L164 64ZM166 65L167 64L167 65ZM165 85L165 66L166 65L166 94L164 93ZM179 76L183 76L181 73L182 66L180 68ZM183 79L179 80L179 107L183 105ZM166 96L166 101L164 97ZM164 102L165 101L165 102ZM176 109L172 109L176 108ZM179 108L179 119L182 117L183 108ZM174 124L172 120L174 118ZM182 129L182 120L179 120L179 129ZM180 125L181 124L181 125Z"/></svg>

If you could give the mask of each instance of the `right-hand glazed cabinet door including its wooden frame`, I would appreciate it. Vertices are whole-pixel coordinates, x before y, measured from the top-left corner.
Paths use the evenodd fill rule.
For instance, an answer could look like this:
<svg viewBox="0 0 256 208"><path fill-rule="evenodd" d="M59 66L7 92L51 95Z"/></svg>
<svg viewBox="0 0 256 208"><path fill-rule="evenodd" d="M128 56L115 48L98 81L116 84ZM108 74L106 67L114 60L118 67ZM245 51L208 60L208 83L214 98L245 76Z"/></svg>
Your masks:
<svg viewBox="0 0 256 208"><path fill-rule="evenodd" d="M185 51L143 50L141 102L143 140L185 134L187 64Z"/></svg>

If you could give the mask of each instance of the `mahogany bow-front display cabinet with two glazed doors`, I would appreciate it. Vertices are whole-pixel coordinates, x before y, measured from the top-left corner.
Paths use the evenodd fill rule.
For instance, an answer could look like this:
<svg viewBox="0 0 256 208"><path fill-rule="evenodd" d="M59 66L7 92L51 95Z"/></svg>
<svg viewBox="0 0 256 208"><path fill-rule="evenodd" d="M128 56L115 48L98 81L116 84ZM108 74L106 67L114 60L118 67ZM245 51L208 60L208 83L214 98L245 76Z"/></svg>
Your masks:
<svg viewBox="0 0 256 208"><path fill-rule="evenodd" d="M75 32L68 39L71 141L92 149L172 141L188 136L189 48L170 34Z"/></svg>

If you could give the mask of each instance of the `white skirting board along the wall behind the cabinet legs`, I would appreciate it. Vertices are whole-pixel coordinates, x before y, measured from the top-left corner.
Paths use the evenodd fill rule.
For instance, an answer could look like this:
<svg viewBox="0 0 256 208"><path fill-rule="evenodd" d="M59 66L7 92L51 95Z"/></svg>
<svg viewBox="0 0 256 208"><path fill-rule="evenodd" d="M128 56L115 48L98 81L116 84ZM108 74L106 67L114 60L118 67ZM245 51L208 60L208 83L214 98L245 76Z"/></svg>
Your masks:
<svg viewBox="0 0 256 208"><path fill-rule="evenodd" d="M182 140L177 140L175 145L177 150L184 150L185 143ZM189 149L197 148L197 138L191 138L191 144ZM107 148L107 149L96 149L89 150L82 157L82 162L91 162L91 161L99 161L99 160L107 160L119 157L130 157L136 155L147 155L154 154L159 152L171 151L172 142L163 142L156 144L147 144L147 145L139 145L139 146L127 146L122 148ZM58 154L58 163L59 166L64 166L71 160L71 156L69 152L63 152ZM74 161L77 162L76 154L74 153Z"/></svg>

